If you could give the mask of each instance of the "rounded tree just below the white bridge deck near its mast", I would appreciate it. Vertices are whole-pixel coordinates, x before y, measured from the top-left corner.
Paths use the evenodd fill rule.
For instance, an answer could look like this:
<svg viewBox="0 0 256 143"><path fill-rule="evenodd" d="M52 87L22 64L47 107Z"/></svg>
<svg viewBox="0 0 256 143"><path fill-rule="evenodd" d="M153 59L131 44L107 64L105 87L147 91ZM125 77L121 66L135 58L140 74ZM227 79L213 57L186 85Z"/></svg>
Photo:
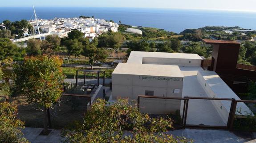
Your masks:
<svg viewBox="0 0 256 143"><path fill-rule="evenodd" d="M39 39L31 39L27 42L28 55L37 56L41 55L41 41Z"/></svg>

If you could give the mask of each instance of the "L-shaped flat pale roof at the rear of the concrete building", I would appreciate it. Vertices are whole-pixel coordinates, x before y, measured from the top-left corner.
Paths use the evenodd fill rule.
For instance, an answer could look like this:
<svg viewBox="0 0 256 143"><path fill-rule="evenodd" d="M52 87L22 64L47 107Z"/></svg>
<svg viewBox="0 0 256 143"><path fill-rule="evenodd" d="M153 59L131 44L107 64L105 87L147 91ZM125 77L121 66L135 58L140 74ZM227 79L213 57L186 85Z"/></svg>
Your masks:
<svg viewBox="0 0 256 143"><path fill-rule="evenodd" d="M179 59L198 59L203 60L198 54L185 54L185 53L163 53L163 52L140 52L132 51L127 60L127 63L142 64L143 57L152 58L179 58Z"/></svg>

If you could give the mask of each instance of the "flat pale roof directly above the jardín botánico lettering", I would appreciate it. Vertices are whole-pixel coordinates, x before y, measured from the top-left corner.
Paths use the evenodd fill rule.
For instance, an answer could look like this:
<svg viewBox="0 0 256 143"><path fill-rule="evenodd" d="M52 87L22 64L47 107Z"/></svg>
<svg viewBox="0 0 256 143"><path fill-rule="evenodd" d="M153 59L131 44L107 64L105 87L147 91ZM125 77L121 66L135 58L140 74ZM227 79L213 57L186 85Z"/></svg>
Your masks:
<svg viewBox="0 0 256 143"><path fill-rule="evenodd" d="M119 63L112 74L183 77L179 66Z"/></svg>

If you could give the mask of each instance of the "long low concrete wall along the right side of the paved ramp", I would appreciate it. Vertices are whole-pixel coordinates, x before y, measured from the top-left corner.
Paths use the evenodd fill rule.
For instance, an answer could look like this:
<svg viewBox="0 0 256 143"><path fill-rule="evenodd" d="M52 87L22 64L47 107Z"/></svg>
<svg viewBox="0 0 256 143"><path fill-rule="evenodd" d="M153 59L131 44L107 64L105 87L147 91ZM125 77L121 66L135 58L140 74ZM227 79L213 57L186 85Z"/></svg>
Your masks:
<svg viewBox="0 0 256 143"><path fill-rule="evenodd" d="M199 83L211 98L234 98L240 100L240 98L226 85L226 83L215 73L214 71L199 71L197 75ZM223 122L227 124L228 116L231 106L231 101L228 100L211 100L211 103L216 108ZM252 111L244 103L237 103L236 115L246 116L252 113Z"/></svg>

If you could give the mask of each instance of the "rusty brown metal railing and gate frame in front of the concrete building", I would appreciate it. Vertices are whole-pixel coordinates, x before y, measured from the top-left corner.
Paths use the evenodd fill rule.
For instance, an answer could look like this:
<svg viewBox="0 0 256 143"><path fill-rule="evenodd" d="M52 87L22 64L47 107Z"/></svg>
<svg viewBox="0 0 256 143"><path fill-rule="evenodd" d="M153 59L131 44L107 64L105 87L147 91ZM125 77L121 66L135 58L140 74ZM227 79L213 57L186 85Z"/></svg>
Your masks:
<svg viewBox="0 0 256 143"><path fill-rule="evenodd" d="M140 109L140 98L153 98L153 99L167 99L167 100L184 100L183 104L183 114L182 114L182 120L181 124L184 128L186 127L195 127L195 128L218 128L218 129L228 129L232 130L233 123L235 120L236 115L236 105L237 103L244 102L244 103L256 103L256 100L235 100L230 98L209 98L209 97L153 97L153 96L146 96L146 95L138 95L138 109ZM225 100L230 101L230 111L228 115L228 123L226 126L212 126L212 125L194 125L194 124L186 124L187 122L187 113L188 113L188 103L189 99L198 99L198 100Z"/></svg>

